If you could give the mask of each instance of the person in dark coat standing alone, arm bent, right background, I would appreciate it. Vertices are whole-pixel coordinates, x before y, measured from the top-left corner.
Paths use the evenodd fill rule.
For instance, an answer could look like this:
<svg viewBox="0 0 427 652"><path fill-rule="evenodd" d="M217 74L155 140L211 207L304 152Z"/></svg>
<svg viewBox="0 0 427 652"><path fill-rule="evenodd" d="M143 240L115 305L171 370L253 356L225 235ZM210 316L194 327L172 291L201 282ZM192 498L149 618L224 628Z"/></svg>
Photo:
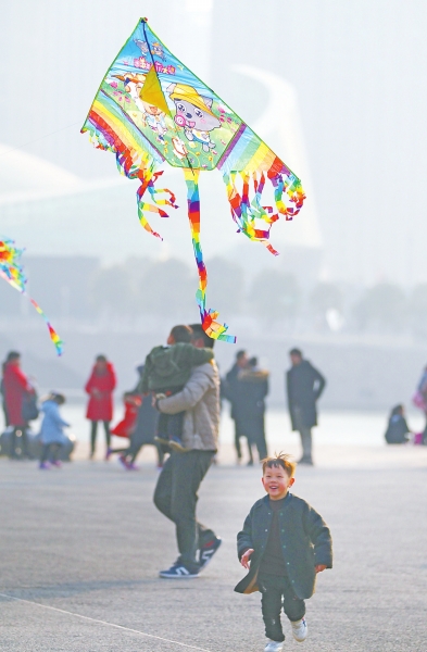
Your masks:
<svg viewBox="0 0 427 652"><path fill-rule="evenodd" d="M289 352L291 368L286 374L288 408L292 430L301 437L302 457L299 464L313 464L312 428L317 426L316 402L321 398L326 380L299 349Z"/></svg>

